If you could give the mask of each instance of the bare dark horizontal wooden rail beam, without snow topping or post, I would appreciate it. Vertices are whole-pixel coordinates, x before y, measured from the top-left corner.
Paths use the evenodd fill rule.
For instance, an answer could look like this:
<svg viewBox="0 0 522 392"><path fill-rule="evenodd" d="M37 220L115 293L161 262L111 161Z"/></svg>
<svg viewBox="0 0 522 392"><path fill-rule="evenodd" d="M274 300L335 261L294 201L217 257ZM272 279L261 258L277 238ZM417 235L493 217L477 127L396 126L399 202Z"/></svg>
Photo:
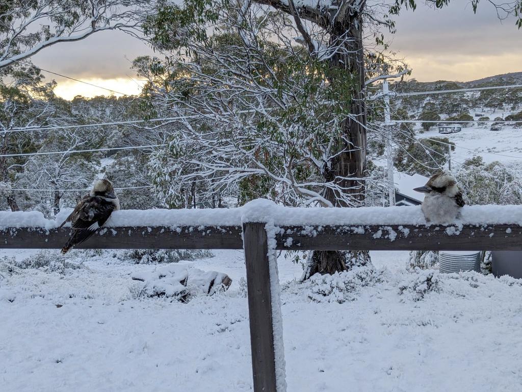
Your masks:
<svg viewBox="0 0 522 392"><path fill-rule="evenodd" d="M108 227L79 249L243 249L241 226ZM67 227L0 229L0 248L60 249ZM522 250L522 226L279 226L277 250Z"/></svg>

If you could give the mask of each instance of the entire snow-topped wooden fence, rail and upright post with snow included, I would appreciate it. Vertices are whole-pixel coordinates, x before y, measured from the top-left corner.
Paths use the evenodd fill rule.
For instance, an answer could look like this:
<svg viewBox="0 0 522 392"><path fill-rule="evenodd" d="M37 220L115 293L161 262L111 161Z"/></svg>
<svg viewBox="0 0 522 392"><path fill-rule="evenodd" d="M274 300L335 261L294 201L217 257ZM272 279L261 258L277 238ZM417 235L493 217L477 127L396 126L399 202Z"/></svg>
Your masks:
<svg viewBox="0 0 522 392"><path fill-rule="evenodd" d="M0 212L0 248L61 248L68 211ZM116 211L78 248L244 249L254 391L286 390L276 249L522 250L522 206L465 206L450 225L420 207L289 208L256 200L237 209Z"/></svg>

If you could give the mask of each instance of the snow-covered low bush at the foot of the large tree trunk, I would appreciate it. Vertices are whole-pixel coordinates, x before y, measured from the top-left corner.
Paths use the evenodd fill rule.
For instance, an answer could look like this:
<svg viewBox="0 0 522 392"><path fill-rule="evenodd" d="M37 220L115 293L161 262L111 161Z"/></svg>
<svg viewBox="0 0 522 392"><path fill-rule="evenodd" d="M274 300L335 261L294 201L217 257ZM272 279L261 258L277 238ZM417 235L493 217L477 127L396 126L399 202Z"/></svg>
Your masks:
<svg viewBox="0 0 522 392"><path fill-rule="evenodd" d="M332 275L315 274L304 285L309 289L307 296L315 302L354 301L365 286L381 281L381 274L372 267L354 267L350 271Z"/></svg>

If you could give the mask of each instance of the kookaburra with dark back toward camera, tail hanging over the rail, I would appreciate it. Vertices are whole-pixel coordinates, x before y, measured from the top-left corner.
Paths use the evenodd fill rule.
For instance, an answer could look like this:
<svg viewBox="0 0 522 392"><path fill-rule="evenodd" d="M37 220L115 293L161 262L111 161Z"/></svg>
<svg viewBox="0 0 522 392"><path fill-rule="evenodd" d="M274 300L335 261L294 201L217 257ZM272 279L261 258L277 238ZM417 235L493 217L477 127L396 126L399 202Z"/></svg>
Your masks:
<svg viewBox="0 0 522 392"><path fill-rule="evenodd" d="M86 194L76 205L74 211L60 225L70 222L73 235L62 248L62 253L81 244L109 219L111 213L120 209L114 188L109 180L96 180L89 194Z"/></svg>

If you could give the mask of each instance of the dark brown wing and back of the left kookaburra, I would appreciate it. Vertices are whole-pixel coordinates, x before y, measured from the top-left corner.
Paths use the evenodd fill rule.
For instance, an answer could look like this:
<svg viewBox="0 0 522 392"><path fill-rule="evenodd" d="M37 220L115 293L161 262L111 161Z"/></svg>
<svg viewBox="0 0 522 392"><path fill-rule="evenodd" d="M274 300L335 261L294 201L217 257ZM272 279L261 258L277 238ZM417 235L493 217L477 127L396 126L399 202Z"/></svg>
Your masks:
<svg viewBox="0 0 522 392"><path fill-rule="evenodd" d="M113 210L114 204L98 196L82 200L81 206L71 222L74 233L62 248L62 253L66 253L96 233L109 219Z"/></svg>

